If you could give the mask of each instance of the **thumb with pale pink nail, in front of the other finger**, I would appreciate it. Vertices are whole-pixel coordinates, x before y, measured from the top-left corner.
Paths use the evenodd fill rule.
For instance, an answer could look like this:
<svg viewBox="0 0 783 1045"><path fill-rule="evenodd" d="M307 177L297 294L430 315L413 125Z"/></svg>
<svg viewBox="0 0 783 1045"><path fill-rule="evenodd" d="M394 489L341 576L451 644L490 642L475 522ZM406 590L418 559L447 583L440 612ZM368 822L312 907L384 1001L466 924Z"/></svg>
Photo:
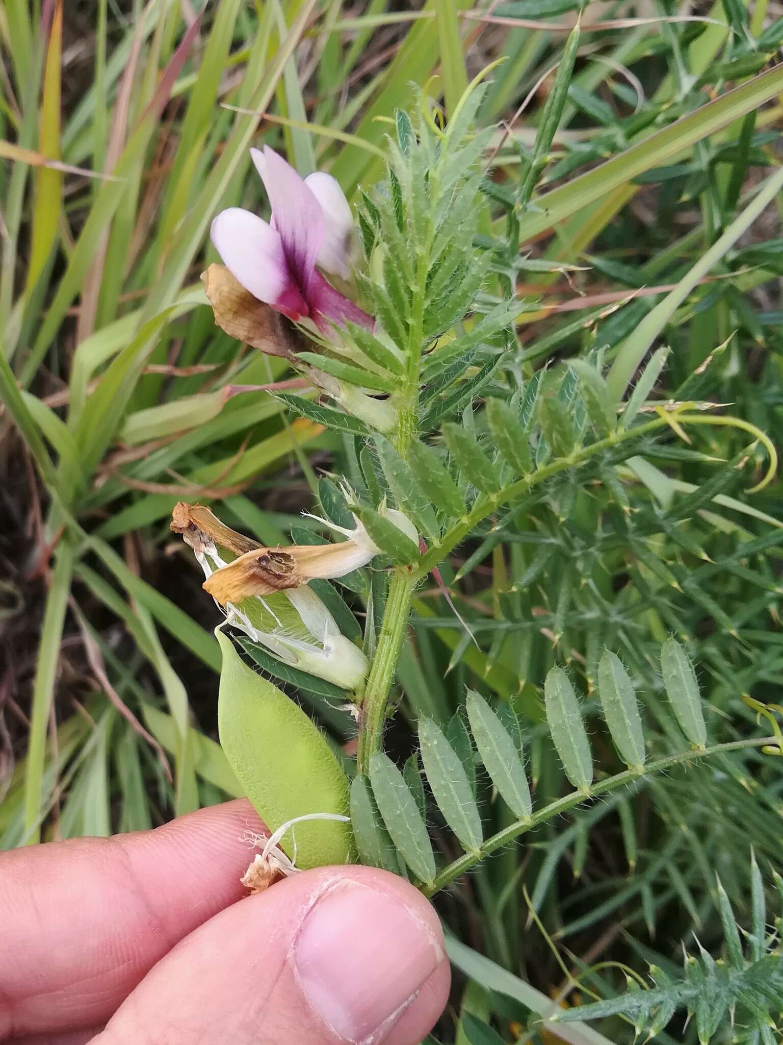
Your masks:
<svg viewBox="0 0 783 1045"><path fill-rule="evenodd" d="M437 916L408 882L372 867L323 867L186 936L94 1041L416 1045L449 981Z"/></svg>

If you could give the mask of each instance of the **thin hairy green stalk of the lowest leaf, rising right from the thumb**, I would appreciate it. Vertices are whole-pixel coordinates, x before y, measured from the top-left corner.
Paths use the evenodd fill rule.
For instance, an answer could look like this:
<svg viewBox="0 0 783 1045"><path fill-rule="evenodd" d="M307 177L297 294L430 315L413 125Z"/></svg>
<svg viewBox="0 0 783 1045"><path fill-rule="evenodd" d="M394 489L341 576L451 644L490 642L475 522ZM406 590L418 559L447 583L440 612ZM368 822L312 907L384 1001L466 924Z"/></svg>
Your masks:
<svg viewBox="0 0 783 1045"><path fill-rule="evenodd" d="M526 831L531 831L533 828L539 827L540 823L544 823L546 820L550 820L553 816L560 816L561 813L565 813L569 809L573 809L574 806L579 806L583 802L588 802L591 798L595 798L601 794L608 794L610 791L616 791L617 788L623 787L625 784L633 784L634 781L638 781L649 773L660 772L663 769L669 769L671 766L679 765L681 762L688 762L691 759L704 759L709 758L712 754L720 754L725 751L738 751L742 748L748 747L764 747L765 745L775 745L777 747L777 739L775 737L750 737L745 740L732 740L727 744L715 744L713 747L708 747L704 751L679 751L677 754L665 754L661 759L655 759L652 762L648 762L646 766L639 772L636 769L626 769L622 773L617 773L615 776L609 776L604 781L599 781L593 787L588 788L585 791L572 791L570 794L564 795L562 798L556 798L554 802L550 802L548 806L544 806L532 816L528 817L526 820L515 820L514 823L508 825L507 828L503 828L502 831L498 831L496 835L488 838L479 849L475 850L473 853L465 853L462 856L453 860L448 866L435 875L434 881L430 885L420 885L419 888L425 895L425 897L432 897L440 889L449 885L454 881L455 878L459 878L464 875L466 870L470 870L475 864L480 860L483 860L495 850L501 849L503 845L507 845L508 842L514 841L520 835L524 834Z"/></svg>

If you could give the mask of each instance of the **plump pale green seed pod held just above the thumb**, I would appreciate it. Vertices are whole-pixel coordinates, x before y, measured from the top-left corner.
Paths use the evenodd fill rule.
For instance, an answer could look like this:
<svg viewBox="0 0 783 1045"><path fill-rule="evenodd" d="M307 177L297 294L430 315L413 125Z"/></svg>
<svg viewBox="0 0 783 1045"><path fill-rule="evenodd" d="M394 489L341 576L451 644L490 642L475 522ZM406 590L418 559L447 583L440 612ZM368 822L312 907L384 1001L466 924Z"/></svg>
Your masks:
<svg viewBox="0 0 783 1045"><path fill-rule="evenodd" d="M302 709L239 657L215 629L222 652L217 720L220 744L254 809L269 831L309 813L350 807L348 777L326 738ZM281 842L302 869L354 859L351 825L296 823Z"/></svg>

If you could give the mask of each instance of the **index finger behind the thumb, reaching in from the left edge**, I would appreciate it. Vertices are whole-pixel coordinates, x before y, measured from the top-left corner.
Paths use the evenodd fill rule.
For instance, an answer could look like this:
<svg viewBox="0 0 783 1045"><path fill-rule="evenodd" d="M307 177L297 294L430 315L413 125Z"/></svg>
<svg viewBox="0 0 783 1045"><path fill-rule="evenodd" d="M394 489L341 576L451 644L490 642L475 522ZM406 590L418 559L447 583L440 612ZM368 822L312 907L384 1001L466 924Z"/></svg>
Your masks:
<svg viewBox="0 0 783 1045"><path fill-rule="evenodd" d="M0 1039L108 1020L180 939L245 895L245 799L156 831L0 856Z"/></svg>

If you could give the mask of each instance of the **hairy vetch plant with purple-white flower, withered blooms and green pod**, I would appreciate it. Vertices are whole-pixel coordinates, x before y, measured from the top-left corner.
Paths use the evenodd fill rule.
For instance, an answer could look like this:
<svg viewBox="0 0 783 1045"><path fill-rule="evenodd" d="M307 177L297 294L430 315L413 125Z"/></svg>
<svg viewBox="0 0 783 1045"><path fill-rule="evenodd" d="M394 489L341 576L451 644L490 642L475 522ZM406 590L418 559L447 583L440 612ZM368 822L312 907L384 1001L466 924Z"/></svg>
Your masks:
<svg viewBox="0 0 783 1045"><path fill-rule="evenodd" d="M285 354L316 392L315 398L279 397L350 446L351 473L339 486L319 481L322 515L311 517L342 540L307 543L298 531L298 542L266 548L198 506L180 505L172 522L193 548L207 577L204 587L227 623L244 632L243 650L266 672L333 701L332 707L348 704L356 717L350 798L342 770L337 773L321 756L312 771L307 759L287 765L281 757L274 768L265 764L262 748L285 751L292 743L287 718L293 713L283 713L287 698L277 688L244 666L240 670L236 651L221 634L224 672L232 679L221 682L221 741L259 813L270 828L308 814L350 815L350 827L313 820L281 837L287 857L295 845L298 859L308 866L335 859L335 846L348 858L355 844L366 863L398 873L407 867L432 896L512 840L589 799L709 756L758 747L778 751L774 738L709 745L691 663L680 643L662 635L660 674L677 725L668 730L668 747L650 757L637 684L621 650L601 652L597 629L585 661L588 696L598 698L616 771L594 771L585 700L566 660L546 675L543 707L538 701L535 709L529 700L526 705L549 734L573 788L553 800L533 798L528 741L513 703L493 706L476 692L467 696L467 722L455 718L445 726L419 718L418 750L404 770L384 751L417 590L430 575L444 589L438 567L458 545L477 540L480 559L492 547L492 534L502 534L533 510L548 513L555 528L579 515L589 520L598 489L630 513L625 469L641 474L645 455L655 454L660 440L673 436L689 443L688 429L730 426L752 437L751 447L726 466L725 480L756 468L757 446L768 460L754 490L775 472L775 447L764 433L717 413L718 404L698 398L697 382L677 399L651 398L664 362L660 350L625 398L627 378L683 300L682 286L692 286L704 272L703 261L638 332L548 369L533 372L518 364L516 321L536 307L535 300L516 294L516 274L525 266L519 240L525 223L535 219L532 185L565 103L561 84L570 75L578 31L567 45L569 62L555 77L540 147L521 156L524 176L516 194L499 194L485 179L482 158L492 131L473 130L483 95L474 83L445 126L424 97L416 118L397 114L385 180L362 195L359 207L360 258L349 246L350 211L336 185L322 175L300 179L269 149L254 154L254 162L271 203L270 223L231 210L213 224L213 241L247 296L242 336L264 351ZM723 234L721 250L781 185L780 173L764 184L746 214ZM488 236L482 232L488 201L498 199L502 213ZM335 274L353 298L327 283L322 269ZM208 293L216 321L234 332L234 320L226 319L220 296L212 293L226 279L213 266ZM282 314L282 325L269 325L269 309ZM319 402L322 393L341 409ZM716 483L698 504L718 490ZM589 539L589 530L583 532ZM531 584L536 568L520 583ZM363 633L331 581L362 614ZM564 587L551 631L555 650L572 599ZM459 648L472 638L466 633ZM263 723L254 721L253 709L265 709ZM306 727L300 716L296 709L302 749L323 748L316 726ZM539 745L540 738L536 749ZM324 780L333 779L322 784L327 762ZM478 768L507 810L505 822L489 835ZM281 808L271 791L286 793L294 777L295 809ZM446 865L438 866L428 834L430 808L460 853Z"/></svg>

